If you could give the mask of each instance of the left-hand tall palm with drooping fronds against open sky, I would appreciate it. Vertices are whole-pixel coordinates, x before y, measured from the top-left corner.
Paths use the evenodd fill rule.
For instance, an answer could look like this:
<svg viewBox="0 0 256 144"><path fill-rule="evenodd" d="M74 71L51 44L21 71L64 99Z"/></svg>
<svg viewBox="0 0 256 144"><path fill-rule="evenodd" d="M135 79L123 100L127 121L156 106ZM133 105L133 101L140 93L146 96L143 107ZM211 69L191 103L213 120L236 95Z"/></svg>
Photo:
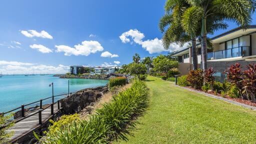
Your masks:
<svg viewBox="0 0 256 144"><path fill-rule="evenodd" d="M196 39L201 39L200 24L201 10L191 6L186 0L167 0L165 15L160 19L159 28L163 35L163 46L169 48L170 43L179 42L181 45L191 41L193 69L197 69ZM208 33L219 28L226 28L226 23L217 19L209 19ZM165 27L169 25L167 30ZM208 40L208 39L207 39ZM208 44L211 47L211 43Z"/></svg>

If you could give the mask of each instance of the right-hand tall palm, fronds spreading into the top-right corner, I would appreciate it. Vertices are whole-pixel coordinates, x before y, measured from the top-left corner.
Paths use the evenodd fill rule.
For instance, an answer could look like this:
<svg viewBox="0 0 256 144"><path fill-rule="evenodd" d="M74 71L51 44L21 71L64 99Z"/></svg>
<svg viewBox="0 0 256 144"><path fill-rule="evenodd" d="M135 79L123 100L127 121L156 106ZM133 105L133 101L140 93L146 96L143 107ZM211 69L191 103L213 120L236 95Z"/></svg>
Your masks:
<svg viewBox="0 0 256 144"><path fill-rule="evenodd" d="M254 12L256 7L255 0L186 0L191 7L197 9L200 15L201 27L201 54L202 54L202 69L207 68L207 47L206 34L207 28L213 22L222 22L223 20L235 21L243 28L251 22L251 12ZM199 16L198 15L198 16ZM190 15L193 18L193 15ZM195 17L195 19L198 17ZM208 21L210 20L210 22ZM194 20L196 21L196 20ZM194 25L196 26L196 24ZM194 27L190 27L194 28Z"/></svg>

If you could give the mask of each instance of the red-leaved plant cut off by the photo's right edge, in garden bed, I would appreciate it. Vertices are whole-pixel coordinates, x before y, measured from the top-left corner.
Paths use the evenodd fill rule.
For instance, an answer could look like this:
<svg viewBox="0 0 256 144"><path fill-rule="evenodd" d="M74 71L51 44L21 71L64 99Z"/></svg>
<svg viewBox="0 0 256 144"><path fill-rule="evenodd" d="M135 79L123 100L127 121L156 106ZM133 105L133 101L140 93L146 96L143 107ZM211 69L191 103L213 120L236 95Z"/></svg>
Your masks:
<svg viewBox="0 0 256 144"><path fill-rule="evenodd" d="M244 70L243 74L242 92L245 93L248 100L256 102L256 64L248 64L247 70Z"/></svg>

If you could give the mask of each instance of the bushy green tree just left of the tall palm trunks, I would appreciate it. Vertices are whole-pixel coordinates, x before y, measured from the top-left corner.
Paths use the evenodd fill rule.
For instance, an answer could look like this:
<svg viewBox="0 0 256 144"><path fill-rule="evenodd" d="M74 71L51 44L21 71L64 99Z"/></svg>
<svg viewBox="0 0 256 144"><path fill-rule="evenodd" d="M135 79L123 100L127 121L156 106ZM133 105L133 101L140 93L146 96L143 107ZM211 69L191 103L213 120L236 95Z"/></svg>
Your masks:
<svg viewBox="0 0 256 144"><path fill-rule="evenodd" d="M153 59L154 71L163 72L168 78L168 71L178 67L178 61L170 60L162 54Z"/></svg>

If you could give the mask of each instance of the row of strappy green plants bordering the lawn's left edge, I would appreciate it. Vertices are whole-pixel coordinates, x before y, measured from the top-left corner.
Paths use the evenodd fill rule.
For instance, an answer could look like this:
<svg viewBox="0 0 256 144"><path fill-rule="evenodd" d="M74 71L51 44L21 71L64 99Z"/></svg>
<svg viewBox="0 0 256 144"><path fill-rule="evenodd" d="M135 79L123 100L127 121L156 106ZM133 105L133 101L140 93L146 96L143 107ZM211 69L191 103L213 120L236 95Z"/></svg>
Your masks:
<svg viewBox="0 0 256 144"><path fill-rule="evenodd" d="M47 133L42 143L109 143L114 138L126 139L127 127L134 127L134 116L148 106L148 88L134 80L130 88L120 91L110 102L96 110L89 120L74 120L55 132Z"/></svg>

